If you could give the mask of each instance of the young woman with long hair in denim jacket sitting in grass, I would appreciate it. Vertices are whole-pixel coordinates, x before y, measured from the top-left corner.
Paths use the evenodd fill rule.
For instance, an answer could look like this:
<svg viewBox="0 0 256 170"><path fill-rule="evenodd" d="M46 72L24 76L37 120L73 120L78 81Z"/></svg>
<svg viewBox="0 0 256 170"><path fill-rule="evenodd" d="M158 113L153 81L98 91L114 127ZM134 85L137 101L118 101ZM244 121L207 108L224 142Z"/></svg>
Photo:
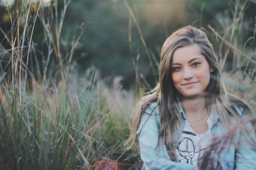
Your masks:
<svg viewBox="0 0 256 170"><path fill-rule="evenodd" d="M225 90L205 32L187 26L164 42L159 84L137 104L127 143L138 135L142 169L198 169L214 137L251 113L248 104ZM214 169L256 169L255 133L251 122L246 125L228 146L220 143L220 155L212 151Z"/></svg>

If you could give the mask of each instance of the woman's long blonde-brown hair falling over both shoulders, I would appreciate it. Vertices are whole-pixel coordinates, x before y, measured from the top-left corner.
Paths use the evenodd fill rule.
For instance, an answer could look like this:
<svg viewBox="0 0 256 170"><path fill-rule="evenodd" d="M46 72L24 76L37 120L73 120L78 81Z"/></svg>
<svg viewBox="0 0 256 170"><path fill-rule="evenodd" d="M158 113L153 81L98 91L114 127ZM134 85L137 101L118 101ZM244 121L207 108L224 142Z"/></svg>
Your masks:
<svg viewBox="0 0 256 170"><path fill-rule="evenodd" d="M189 25L173 32L164 41L159 64L159 84L150 94L142 97L136 105L131 134L125 143L126 146L131 146L136 139L136 131L143 111L148 104L156 101L156 107L159 108L160 116L159 141L164 141L172 155L175 156L173 139L175 139L175 132L180 131L181 115L179 113L179 103L181 94L175 89L171 78L172 59L175 50L193 44L200 47L202 55L204 55L209 66L214 70L211 73L209 85L205 89L207 93L207 99L205 100L207 110L215 110L221 122L225 125L230 124L230 117L236 118L237 121L239 120L238 113L233 107L234 104L242 106L246 113L252 113L248 104L238 97L228 94L225 90L225 85L221 78L220 64L218 64L217 57L205 32Z"/></svg>

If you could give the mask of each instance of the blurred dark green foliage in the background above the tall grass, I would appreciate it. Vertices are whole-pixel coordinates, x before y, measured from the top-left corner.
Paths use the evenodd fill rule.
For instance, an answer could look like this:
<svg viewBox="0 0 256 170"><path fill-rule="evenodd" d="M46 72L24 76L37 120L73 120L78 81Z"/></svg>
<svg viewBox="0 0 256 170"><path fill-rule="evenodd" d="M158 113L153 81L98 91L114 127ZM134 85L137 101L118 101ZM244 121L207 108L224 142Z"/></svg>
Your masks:
<svg viewBox="0 0 256 170"><path fill-rule="evenodd" d="M164 39L175 29L184 25L195 25L209 30L211 25L217 32L223 33L232 25L236 3L246 1L203 1L203 0L129 0L127 3L134 12L142 36L152 56L159 60L159 53ZM59 6L63 5L59 1ZM245 42L253 34L256 4L248 1L243 11L243 29L239 31L239 42ZM1 28L7 30L8 17L1 8ZM118 75L124 76L124 87L130 87L135 80L135 72L145 76L145 80L154 86L156 71L153 73L140 34L136 25L121 0L73 0L67 9L63 27L61 46L67 46L68 40L79 32L81 24L86 24L86 31L81 38L73 60L79 65L81 74L88 67L100 70L100 76L111 82ZM74 27L76 29L74 29ZM207 32L212 34L212 32ZM42 24L38 22L35 29L35 44L42 46ZM209 36L212 42L215 37ZM3 39L3 35L1 35ZM129 41L129 39L131 41ZM3 41L1 41L1 44ZM4 43L3 43L4 44ZM217 42L218 44L218 42ZM5 44L6 45L6 44ZM43 48L44 49L44 48ZM140 56L138 58L138 56ZM138 62L138 70L132 60ZM231 69L227 64L227 69ZM156 64L154 64L157 70ZM109 81L108 81L109 80Z"/></svg>

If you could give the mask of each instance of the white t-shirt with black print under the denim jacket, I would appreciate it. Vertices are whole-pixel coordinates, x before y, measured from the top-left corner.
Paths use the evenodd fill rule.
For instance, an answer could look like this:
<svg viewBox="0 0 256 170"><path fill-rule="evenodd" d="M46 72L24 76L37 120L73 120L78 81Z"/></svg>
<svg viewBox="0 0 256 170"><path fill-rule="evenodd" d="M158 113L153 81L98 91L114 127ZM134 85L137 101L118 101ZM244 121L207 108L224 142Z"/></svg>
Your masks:
<svg viewBox="0 0 256 170"><path fill-rule="evenodd" d="M212 143L212 135L210 129L214 125L212 114L207 120L208 130L204 134L196 134L191 128L188 121L184 126L184 131L176 148L178 162L198 165L198 157L204 155L207 147Z"/></svg>

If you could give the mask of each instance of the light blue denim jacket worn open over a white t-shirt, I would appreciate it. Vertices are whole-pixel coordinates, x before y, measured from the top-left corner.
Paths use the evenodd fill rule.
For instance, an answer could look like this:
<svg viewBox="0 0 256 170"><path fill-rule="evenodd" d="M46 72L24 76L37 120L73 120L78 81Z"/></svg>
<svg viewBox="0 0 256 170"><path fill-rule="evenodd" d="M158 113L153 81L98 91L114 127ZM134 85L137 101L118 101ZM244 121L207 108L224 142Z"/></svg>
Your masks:
<svg viewBox="0 0 256 170"><path fill-rule="evenodd" d="M243 110L236 108L241 116L243 116ZM182 122L180 132L175 135L175 146L178 145L181 138L181 132L183 131L186 117L184 111L180 106L180 114L182 115ZM216 123L210 129L212 136L221 136L227 132L227 127L221 123L218 114L212 112L213 118ZM140 125L138 127L138 139L140 144L140 156L143 160L142 169L198 169L198 167L190 164L184 164L180 162L173 162L170 160L170 156L166 150L165 145L159 145L159 111L156 107L156 103L151 103L147 106L146 110L141 116ZM250 130L250 136L255 138L255 132L252 124L246 124ZM248 142L248 134L236 131L234 143L236 146L230 145L220 155L220 165L217 169L231 170L231 169L256 169L256 150L252 147L252 143Z"/></svg>

